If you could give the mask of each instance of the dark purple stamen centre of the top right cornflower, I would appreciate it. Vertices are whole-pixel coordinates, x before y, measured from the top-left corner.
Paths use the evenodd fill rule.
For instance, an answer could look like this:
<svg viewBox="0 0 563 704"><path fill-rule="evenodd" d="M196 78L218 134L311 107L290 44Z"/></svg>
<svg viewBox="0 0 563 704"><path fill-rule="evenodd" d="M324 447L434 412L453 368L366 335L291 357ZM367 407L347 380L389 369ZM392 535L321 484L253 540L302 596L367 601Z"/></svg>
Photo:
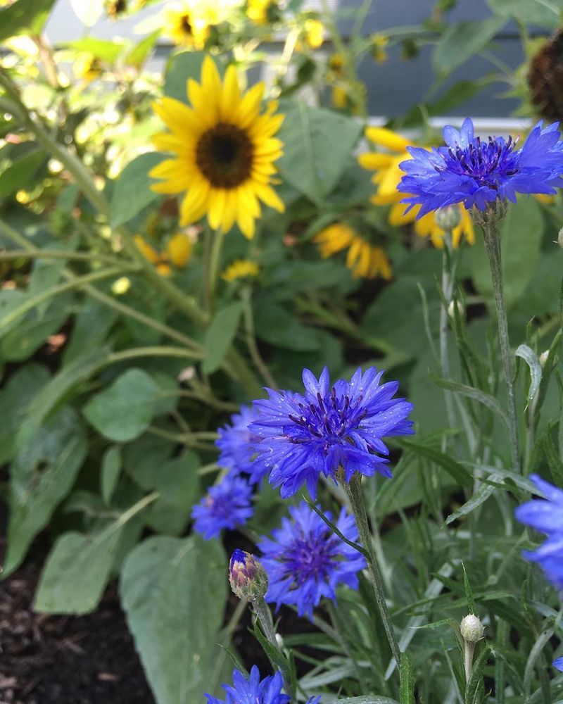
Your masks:
<svg viewBox="0 0 563 704"><path fill-rule="evenodd" d="M469 142L469 146L450 146L447 150L448 156L443 153L444 167L436 167L436 170L471 176L479 184L495 189L502 178L512 176L518 171L515 146L516 142L512 142L512 137L509 137L507 142L504 139L489 137L484 143L480 137L476 137Z"/></svg>

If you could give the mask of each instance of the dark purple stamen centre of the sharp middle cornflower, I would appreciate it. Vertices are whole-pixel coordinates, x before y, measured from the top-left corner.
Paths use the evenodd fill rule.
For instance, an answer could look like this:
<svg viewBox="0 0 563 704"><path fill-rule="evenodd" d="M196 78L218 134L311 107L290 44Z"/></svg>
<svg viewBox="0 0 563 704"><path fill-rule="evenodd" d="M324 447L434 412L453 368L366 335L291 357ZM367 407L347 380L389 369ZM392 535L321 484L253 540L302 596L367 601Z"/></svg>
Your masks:
<svg viewBox="0 0 563 704"><path fill-rule="evenodd" d="M298 434L293 434L291 429L286 428L288 439L291 442L302 443L312 439L324 439L338 442L346 438L350 430L358 427L359 423L367 415L367 409L362 409L358 413L358 407L362 397L353 406L350 406L350 398L336 398L336 389L332 387L330 396L325 396L324 401L317 392L317 403L299 403L301 415L289 414L289 419L300 426ZM308 437L303 435L304 429Z"/></svg>

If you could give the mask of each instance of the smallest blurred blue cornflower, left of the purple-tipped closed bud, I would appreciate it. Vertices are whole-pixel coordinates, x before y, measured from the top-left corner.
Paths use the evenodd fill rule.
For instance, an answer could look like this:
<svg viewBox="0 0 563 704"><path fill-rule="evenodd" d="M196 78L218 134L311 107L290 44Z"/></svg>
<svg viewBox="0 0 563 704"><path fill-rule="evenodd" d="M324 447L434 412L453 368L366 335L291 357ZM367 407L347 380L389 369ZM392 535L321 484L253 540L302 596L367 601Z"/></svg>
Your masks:
<svg viewBox="0 0 563 704"><path fill-rule="evenodd" d="M252 487L241 477L227 474L220 484L212 486L207 496L191 510L194 529L205 540L217 538L223 528L243 525L253 514Z"/></svg>

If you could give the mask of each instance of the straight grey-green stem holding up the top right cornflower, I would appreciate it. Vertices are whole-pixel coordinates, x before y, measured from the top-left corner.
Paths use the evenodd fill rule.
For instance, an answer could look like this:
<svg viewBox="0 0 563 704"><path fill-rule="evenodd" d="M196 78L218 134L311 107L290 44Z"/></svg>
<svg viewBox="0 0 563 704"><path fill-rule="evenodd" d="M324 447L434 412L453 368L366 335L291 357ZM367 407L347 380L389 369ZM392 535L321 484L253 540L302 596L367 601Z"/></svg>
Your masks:
<svg viewBox="0 0 563 704"><path fill-rule="evenodd" d="M498 220L495 218L488 218L486 222L483 223L483 234L485 236L485 249L488 257L488 263L491 268L491 280L493 282L493 295L495 298L495 308L497 313L498 339L500 341L500 356L502 359L502 369L505 374L505 381L508 391L510 454L514 470L519 471L520 460L518 452L516 396L514 394L514 372L512 366L512 355L510 353L510 338L508 337L505 294L502 287L502 260L500 256L500 232L498 229Z"/></svg>

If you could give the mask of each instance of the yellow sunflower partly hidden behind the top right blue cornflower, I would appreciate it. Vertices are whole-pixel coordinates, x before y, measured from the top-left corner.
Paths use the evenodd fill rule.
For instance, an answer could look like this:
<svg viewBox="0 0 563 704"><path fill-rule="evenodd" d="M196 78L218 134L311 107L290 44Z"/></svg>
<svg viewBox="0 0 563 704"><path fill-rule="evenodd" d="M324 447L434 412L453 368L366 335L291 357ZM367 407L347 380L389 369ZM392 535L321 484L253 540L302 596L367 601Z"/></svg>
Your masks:
<svg viewBox="0 0 563 704"><path fill-rule="evenodd" d="M400 134L392 130L386 130L384 127L368 127L366 137L379 147L386 149L385 152L367 152L360 154L358 161L360 166L365 169L375 170L376 173L372 177L372 181L377 186L377 191L372 196L372 203L376 206L391 206L389 210L388 222L396 227L406 225L408 222L415 223L415 232L421 237L430 237L432 244L436 247L443 246L444 231L436 225L436 213L428 213L420 220L416 220L419 206L412 208L405 215L405 203L400 201L405 197L404 193L397 190L397 186L403 176L403 171L400 170L399 164L405 159L410 159L410 153L407 151L407 146L412 146L412 142L402 137ZM460 204L455 206L460 208L460 225L452 231L453 246L457 247L460 244L460 239L464 234L469 244L475 241L473 223L469 217L469 213Z"/></svg>

